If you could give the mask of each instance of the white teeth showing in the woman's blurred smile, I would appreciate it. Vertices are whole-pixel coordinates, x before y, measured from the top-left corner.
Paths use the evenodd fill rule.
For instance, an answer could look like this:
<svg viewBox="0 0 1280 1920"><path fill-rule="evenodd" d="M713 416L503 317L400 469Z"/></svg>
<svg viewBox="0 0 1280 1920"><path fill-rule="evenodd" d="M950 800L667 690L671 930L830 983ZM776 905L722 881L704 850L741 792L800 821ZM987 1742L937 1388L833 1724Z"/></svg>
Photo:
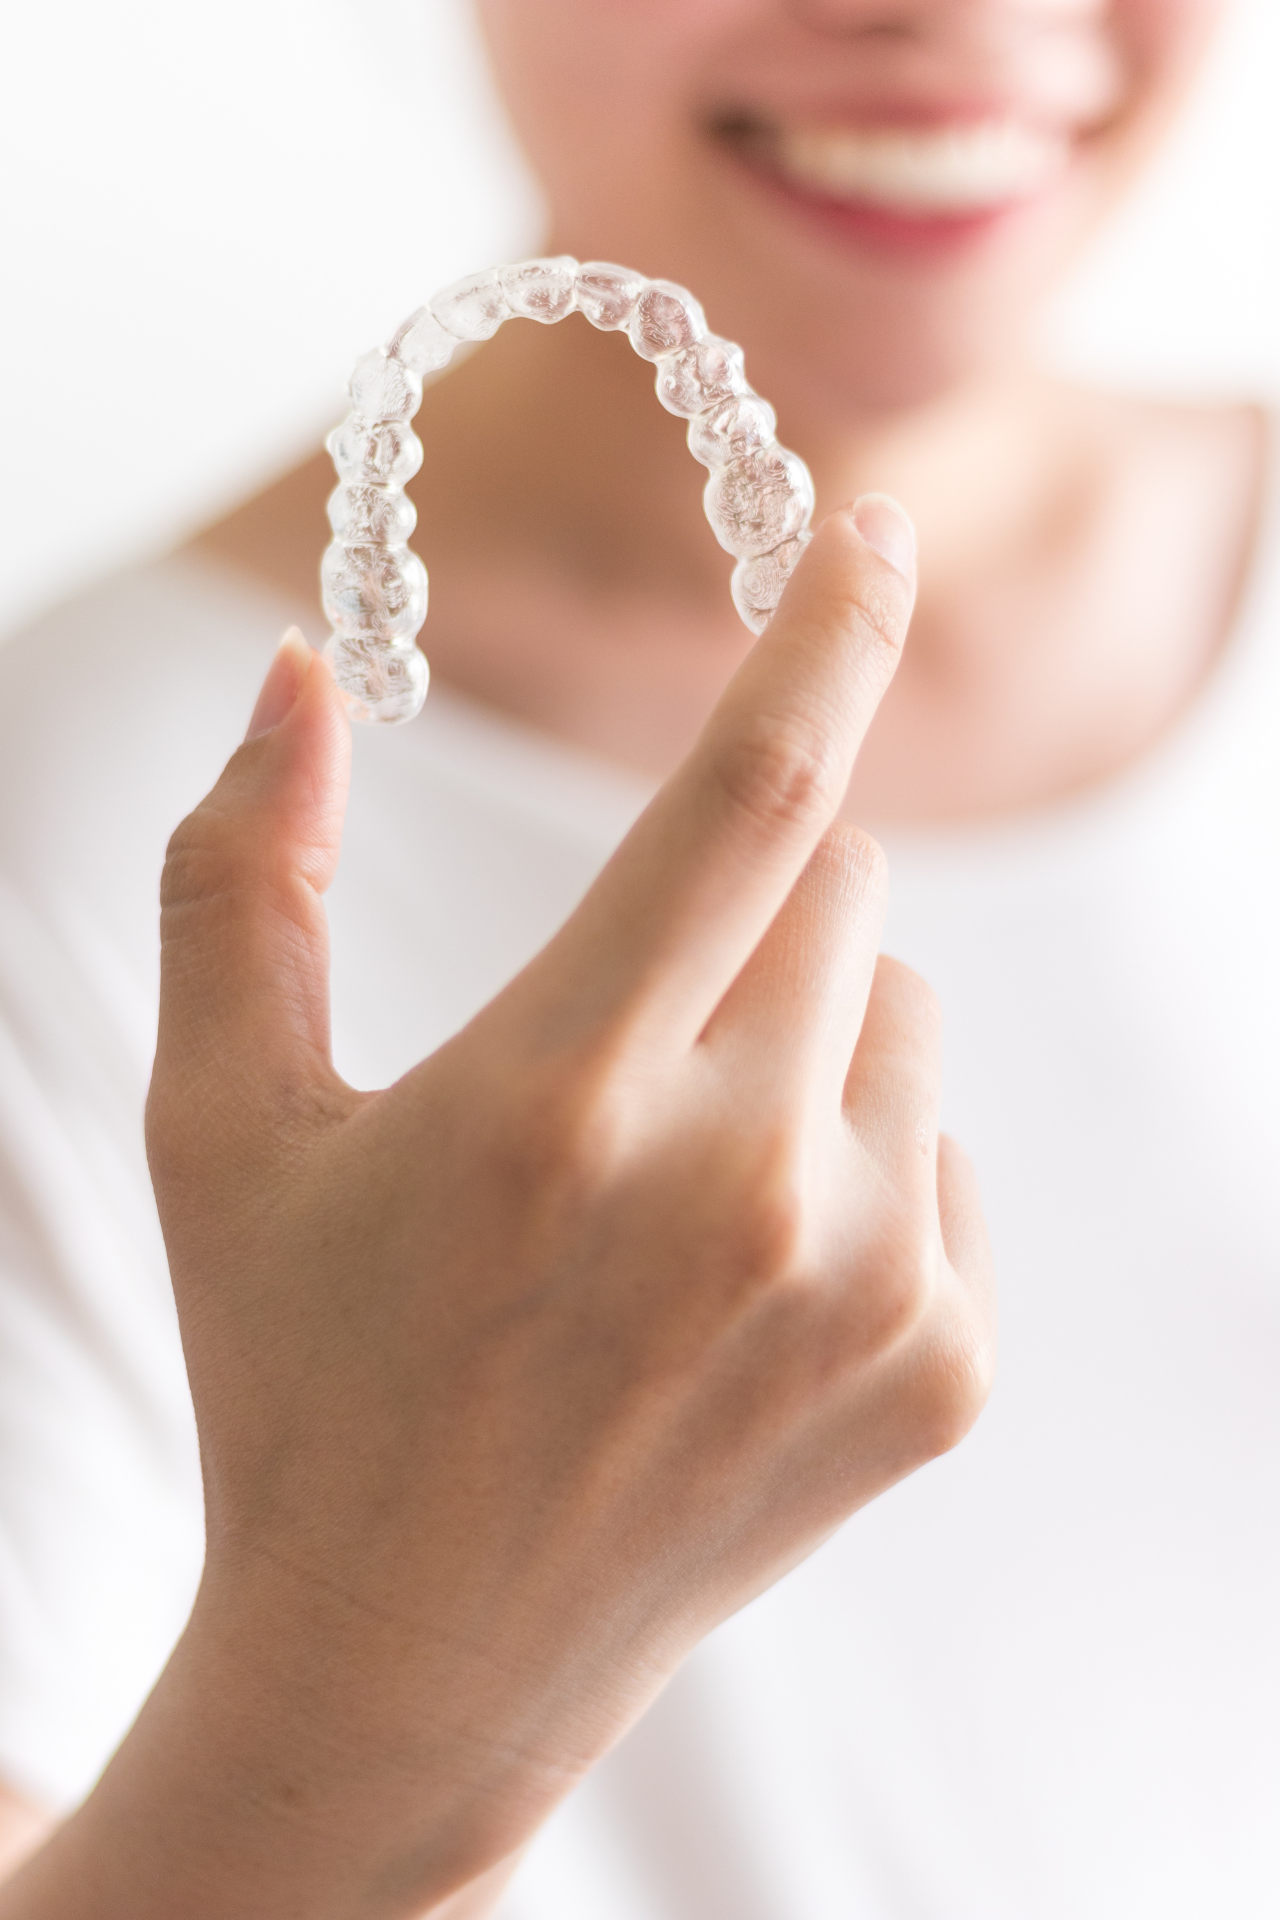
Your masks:
<svg viewBox="0 0 1280 1920"><path fill-rule="evenodd" d="M768 150L796 186L904 213L973 213L1029 200L1061 173L1069 142L1019 121L938 129L779 129Z"/></svg>

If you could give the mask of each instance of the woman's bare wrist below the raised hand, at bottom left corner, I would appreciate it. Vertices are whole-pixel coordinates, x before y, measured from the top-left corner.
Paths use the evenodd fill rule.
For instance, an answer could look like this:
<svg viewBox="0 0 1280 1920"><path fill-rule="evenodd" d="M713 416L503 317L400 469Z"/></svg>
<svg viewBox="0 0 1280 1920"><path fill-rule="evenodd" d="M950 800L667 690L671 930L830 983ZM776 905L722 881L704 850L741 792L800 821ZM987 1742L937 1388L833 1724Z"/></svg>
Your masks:
<svg viewBox="0 0 1280 1920"><path fill-rule="evenodd" d="M518 1788L399 1724L317 1624L228 1615L201 1592L96 1789L0 1893L0 1920L407 1920L510 1855L528 1837ZM386 1672L386 1651L367 1667Z"/></svg>

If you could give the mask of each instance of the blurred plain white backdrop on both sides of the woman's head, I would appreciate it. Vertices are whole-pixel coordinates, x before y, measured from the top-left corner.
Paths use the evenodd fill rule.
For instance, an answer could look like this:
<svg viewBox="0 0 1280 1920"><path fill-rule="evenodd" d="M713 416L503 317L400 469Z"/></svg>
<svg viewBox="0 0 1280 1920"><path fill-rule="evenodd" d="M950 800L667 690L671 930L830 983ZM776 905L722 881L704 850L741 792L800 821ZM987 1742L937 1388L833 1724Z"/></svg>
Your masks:
<svg viewBox="0 0 1280 1920"><path fill-rule="evenodd" d="M29 4L6 69L0 632L282 470L365 346L539 228L464 0ZM1280 399L1278 77L1280 6L1238 0L1059 367Z"/></svg>

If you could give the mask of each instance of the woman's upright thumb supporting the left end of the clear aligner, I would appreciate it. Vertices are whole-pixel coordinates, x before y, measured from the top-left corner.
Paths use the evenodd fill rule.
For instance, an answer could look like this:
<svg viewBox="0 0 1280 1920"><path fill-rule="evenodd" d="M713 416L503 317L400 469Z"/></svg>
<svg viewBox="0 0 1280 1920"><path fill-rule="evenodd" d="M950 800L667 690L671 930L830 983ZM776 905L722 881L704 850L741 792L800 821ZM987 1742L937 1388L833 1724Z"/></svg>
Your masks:
<svg viewBox="0 0 1280 1920"><path fill-rule="evenodd" d="M280 641L249 737L169 841L148 1150L203 1156L332 1089L328 924L351 732L328 664Z"/></svg>

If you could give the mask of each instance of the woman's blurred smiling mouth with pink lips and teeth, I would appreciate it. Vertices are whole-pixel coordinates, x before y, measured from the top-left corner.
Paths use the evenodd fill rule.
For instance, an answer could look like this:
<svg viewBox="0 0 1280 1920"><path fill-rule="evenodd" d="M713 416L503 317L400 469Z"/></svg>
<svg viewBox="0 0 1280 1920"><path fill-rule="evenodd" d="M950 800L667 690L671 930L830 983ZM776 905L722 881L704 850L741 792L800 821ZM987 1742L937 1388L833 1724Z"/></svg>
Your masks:
<svg viewBox="0 0 1280 1920"><path fill-rule="evenodd" d="M862 236L958 240L1052 190L1073 138L1017 119L733 127L725 136L789 200Z"/></svg>

